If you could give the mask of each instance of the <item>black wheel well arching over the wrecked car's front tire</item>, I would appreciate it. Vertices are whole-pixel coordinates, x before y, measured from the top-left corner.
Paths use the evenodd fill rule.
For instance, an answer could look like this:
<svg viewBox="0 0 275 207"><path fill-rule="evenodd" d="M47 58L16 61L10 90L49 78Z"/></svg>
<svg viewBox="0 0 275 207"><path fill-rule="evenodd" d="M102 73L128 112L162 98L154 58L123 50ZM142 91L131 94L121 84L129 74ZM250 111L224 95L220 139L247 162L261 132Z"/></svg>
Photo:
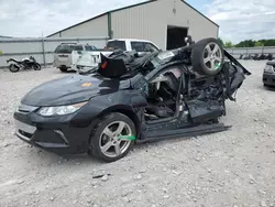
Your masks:
<svg viewBox="0 0 275 207"><path fill-rule="evenodd" d="M110 110L108 110L108 111L105 111L103 113L101 113L99 117L103 117L103 116L106 116L106 115L108 115L108 113L110 113L110 112L120 112L120 113L122 113L122 115L124 115L124 116L127 116L127 117L129 117L132 121L133 121L133 123L134 123L134 126L135 126L135 130L136 130L136 137L139 138L140 137L140 133L141 133L141 123L140 123L140 119L138 118L138 116L136 116L136 113L135 112L133 112L132 110L130 110L130 109L110 109Z"/></svg>

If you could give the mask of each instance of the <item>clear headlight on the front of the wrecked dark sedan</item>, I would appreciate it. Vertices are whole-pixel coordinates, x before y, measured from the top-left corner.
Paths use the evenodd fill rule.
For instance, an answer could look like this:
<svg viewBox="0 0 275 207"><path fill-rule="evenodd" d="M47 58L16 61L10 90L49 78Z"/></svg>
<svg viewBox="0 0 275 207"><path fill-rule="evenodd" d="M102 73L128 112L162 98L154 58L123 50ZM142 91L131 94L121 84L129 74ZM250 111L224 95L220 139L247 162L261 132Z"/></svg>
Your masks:
<svg viewBox="0 0 275 207"><path fill-rule="evenodd" d="M38 113L44 117L70 115L79 110L86 103L87 101L61 107L42 107Z"/></svg>

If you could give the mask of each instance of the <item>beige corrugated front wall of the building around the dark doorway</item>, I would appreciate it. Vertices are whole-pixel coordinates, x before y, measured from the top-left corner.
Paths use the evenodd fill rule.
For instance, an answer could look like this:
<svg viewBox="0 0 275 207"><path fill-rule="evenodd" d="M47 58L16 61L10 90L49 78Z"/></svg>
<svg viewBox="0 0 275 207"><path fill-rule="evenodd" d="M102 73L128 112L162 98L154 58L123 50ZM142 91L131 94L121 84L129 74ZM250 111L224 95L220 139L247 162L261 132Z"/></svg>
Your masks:
<svg viewBox="0 0 275 207"><path fill-rule="evenodd" d="M114 39L145 39L163 50L166 50L167 25L188 28L195 41L218 37L218 25L180 0L158 0L111 13Z"/></svg>

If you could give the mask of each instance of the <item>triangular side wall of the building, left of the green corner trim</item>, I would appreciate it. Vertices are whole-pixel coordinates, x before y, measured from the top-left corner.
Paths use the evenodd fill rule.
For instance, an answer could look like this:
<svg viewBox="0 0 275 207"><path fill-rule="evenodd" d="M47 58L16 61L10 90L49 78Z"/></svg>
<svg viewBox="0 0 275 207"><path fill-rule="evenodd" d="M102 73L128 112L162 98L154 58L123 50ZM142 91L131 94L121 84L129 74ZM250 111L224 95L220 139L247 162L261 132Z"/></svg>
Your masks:
<svg viewBox="0 0 275 207"><path fill-rule="evenodd" d="M72 26L50 37L97 37L108 36L108 15Z"/></svg>

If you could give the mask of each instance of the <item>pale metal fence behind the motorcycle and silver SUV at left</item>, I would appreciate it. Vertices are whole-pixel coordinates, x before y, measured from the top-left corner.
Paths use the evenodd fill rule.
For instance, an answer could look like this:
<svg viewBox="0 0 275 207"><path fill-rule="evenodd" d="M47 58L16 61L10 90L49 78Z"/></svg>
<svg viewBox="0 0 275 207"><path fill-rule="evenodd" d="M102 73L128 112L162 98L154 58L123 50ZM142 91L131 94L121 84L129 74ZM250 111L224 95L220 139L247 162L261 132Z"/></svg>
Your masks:
<svg viewBox="0 0 275 207"><path fill-rule="evenodd" d="M108 37L98 39L7 39L0 40L0 68L7 67L8 58L22 59L30 55L40 64L52 64L53 52L61 43L82 43L103 48ZM44 47L44 50L43 50ZM45 59L44 59L45 57ZM45 61L45 62L44 62Z"/></svg>

